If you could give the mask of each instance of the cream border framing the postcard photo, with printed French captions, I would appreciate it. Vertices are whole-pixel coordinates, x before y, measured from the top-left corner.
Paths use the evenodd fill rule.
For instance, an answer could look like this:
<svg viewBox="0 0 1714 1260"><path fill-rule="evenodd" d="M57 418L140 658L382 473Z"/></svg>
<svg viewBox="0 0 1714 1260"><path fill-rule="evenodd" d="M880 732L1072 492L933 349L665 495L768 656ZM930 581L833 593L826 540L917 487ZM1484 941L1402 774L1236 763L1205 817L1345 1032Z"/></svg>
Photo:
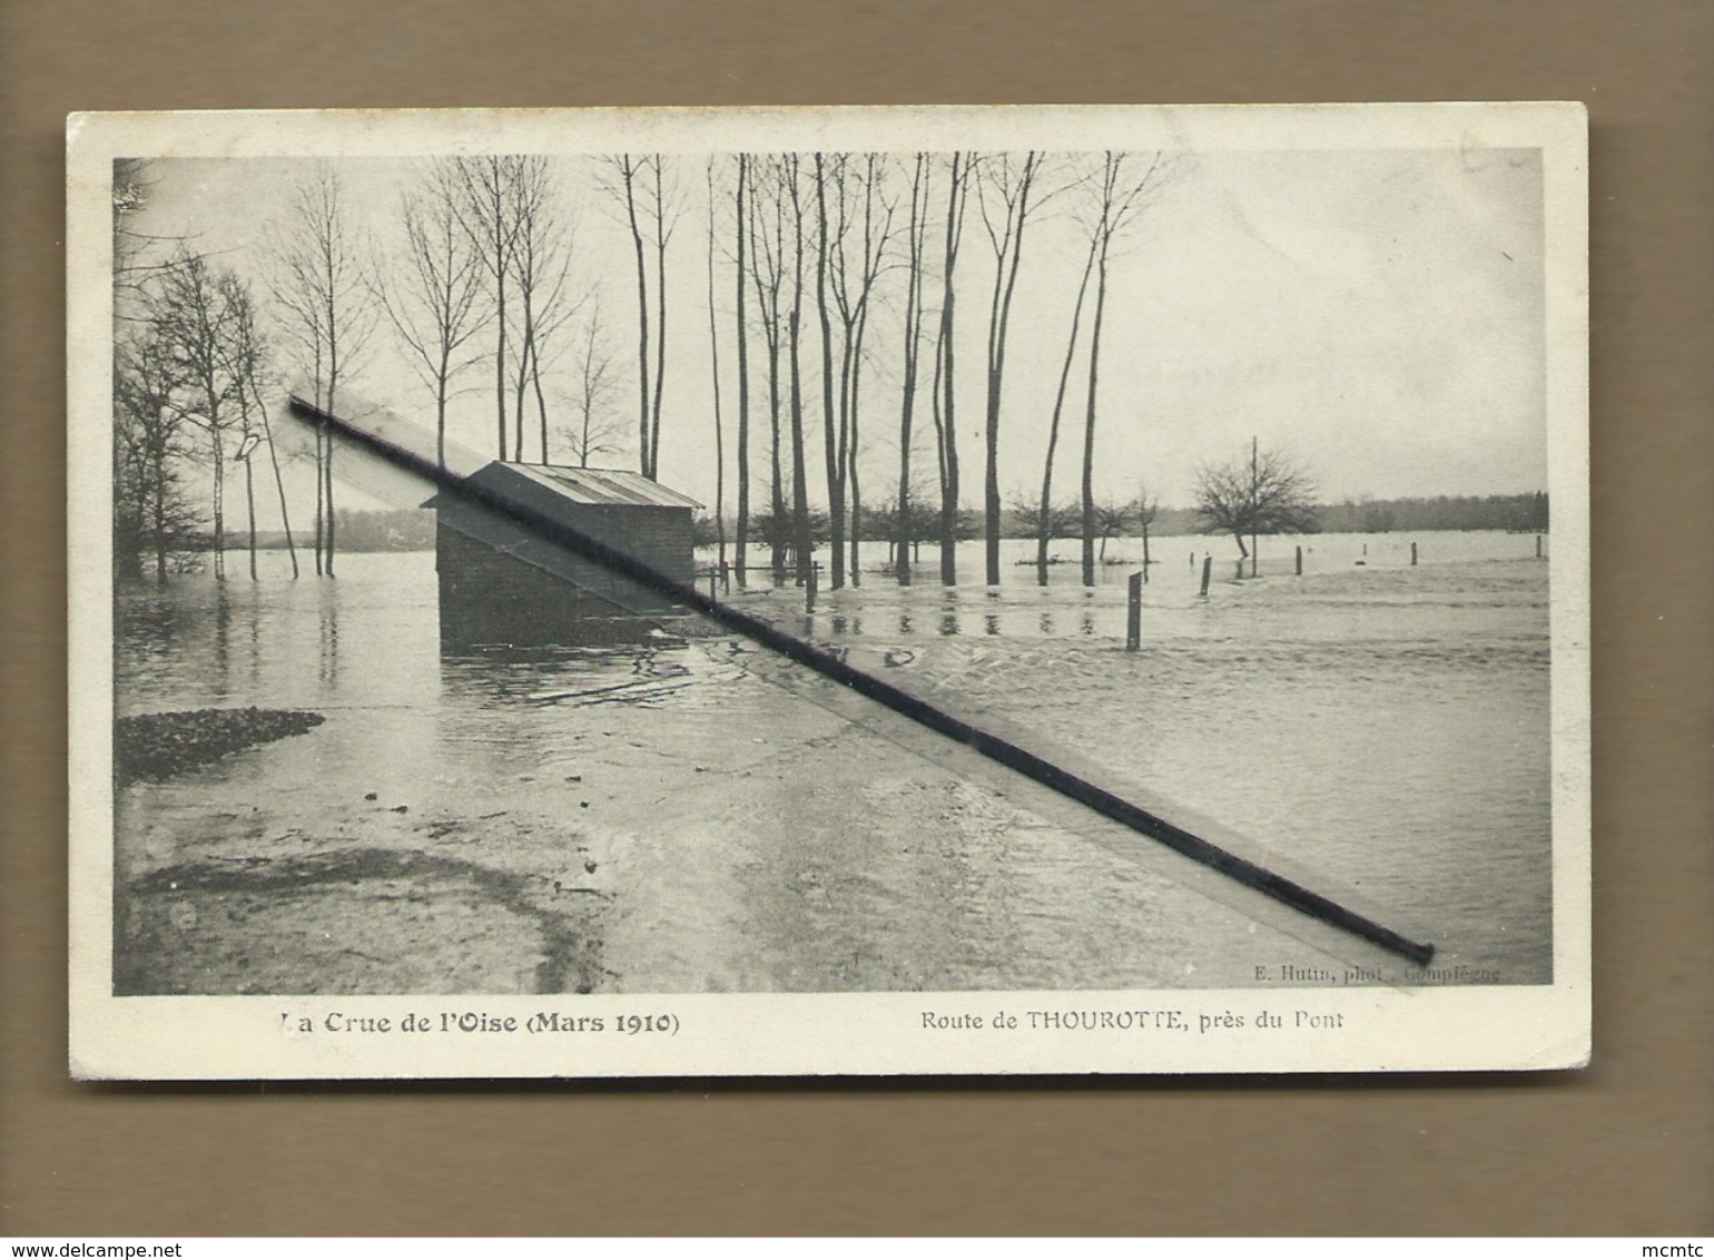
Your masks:
<svg viewBox="0 0 1714 1260"><path fill-rule="evenodd" d="M1587 122L1579 105L75 115L69 123L70 1027L86 1078L1467 1071L1589 1058ZM115 998L111 161L620 149L1541 147L1553 504L1549 986ZM1279 1015L1280 1027L1255 1018ZM1243 1015L1243 1029L1219 1020ZM552 1018L550 1018L552 1017ZM600 1022L567 1029L578 1018ZM557 1022L555 1022L557 1020ZM944 1023L943 1023L944 1020ZM1016 1025L1008 1025L1016 1020ZM1032 1027L1034 1022L1034 1027ZM422 1029L422 1030L420 1030Z"/></svg>

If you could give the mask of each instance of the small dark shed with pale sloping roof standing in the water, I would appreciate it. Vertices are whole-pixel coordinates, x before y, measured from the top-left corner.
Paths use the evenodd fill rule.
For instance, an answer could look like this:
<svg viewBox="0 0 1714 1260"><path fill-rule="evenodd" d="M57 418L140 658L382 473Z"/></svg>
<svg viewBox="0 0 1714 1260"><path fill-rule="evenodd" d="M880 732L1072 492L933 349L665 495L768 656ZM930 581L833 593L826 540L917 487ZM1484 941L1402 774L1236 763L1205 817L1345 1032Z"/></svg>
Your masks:
<svg viewBox="0 0 1714 1260"><path fill-rule="evenodd" d="M492 461L468 483L689 585L691 513L699 506L641 473ZM463 497L440 494L435 573L440 645L519 648L626 643L682 612L622 574L538 538Z"/></svg>

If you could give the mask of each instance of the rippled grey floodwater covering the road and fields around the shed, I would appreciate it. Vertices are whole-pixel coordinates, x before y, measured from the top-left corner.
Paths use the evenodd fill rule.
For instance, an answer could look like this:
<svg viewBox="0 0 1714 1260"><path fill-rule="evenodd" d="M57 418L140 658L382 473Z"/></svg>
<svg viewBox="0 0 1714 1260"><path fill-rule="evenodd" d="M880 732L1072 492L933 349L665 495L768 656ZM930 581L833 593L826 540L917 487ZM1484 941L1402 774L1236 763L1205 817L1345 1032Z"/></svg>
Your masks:
<svg viewBox="0 0 1714 1260"><path fill-rule="evenodd" d="M941 586L924 549L914 585L864 573L812 612L764 574L730 598L1435 941L1414 982L1548 982L1548 566L1532 535L1417 535L1416 566L1411 542L1316 537L1299 578L1263 540L1238 583L1229 540L1152 540L1136 653L1136 540L1092 590L1076 564L1037 586L1008 543L992 590ZM730 634L442 658L432 554L346 554L336 581L262 562L120 597L122 715L327 718L120 790L120 991L1407 979ZM980 547L960 564L979 581Z"/></svg>

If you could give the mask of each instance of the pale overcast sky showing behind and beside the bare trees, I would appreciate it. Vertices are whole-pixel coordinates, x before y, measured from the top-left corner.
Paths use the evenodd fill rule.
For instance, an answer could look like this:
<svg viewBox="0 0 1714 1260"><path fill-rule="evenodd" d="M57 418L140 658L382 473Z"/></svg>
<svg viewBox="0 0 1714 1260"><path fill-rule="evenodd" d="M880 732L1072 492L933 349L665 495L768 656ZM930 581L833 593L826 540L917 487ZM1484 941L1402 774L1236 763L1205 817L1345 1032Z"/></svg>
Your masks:
<svg viewBox="0 0 1714 1260"><path fill-rule="evenodd" d="M668 367L660 477L713 504L713 423L706 307L706 161L675 158L682 218L668 250ZM410 165L343 159L362 230L386 255ZM137 226L185 235L252 276L266 297L261 242L285 213L307 159L159 159ZM631 439L636 415L636 279L629 237L595 187L588 158L557 165L578 219L576 281L600 291ZM730 178L730 177L727 177ZM1025 238L1011 322L1001 430L1001 487L1040 485L1085 242L1076 194L1052 202ZM936 204L936 209L939 204ZM725 206L722 206L725 211ZM722 230L728 231L727 221ZM984 341L992 257L975 199L960 261L960 456L965 499L980 501ZM735 432L730 261L718 259L730 495ZM866 497L898 478L896 314L886 283L864 375ZM812 297L811 297L812 300ZM586 307L588 309L588 307ZM1087 321L1085 321L1087 329ZM819 408L819 343L806 312L806 398ZM752 470L766 477L764 379L752 343ZM452 434L492 449L492 369L466 379ZM432 396L406 370L382 324L353 387L432 425ZM1082 459L1082 355L1061 437L1056 497L1071 501ZM919 429L929 432L927 398ZM1539 151L1224 151L1186 154L1171 185L1121 243L1109 278L1097 430L1097 495L1130 499L1147 482L1164 504L1190 504L1198 463L1248 453L1251 435L1287 451L1320 497L1512 494L1546 489L1543 182ZM560 403L555 423L571 420ZM806 417L819 434L819 410ZM634 441L634 439L631 439ZM531 454L533 458L533 454ZM634 447L602 461L634 466ZM819 439L809 453L821 468ZM932 485L932 447L919 483ZM758 480L758 489L764 482ZM812 497L823 497L812 490ZM728 497L727 511L732 511Z"/></svg>

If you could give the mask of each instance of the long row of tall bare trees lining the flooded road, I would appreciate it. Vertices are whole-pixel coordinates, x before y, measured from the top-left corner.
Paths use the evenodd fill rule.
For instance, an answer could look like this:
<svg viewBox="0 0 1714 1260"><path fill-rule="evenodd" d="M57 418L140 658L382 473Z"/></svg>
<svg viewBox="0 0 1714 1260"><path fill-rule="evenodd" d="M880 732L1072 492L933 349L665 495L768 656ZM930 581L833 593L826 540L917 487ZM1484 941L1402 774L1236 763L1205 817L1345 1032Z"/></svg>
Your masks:
<svg viewBox="0 0 1714 1260"><path fill-rule="evenodd" d="M1112 531L1111 511L1094 495L1111 262L1174 173L1169 156L1152 153L787 153L694 163L662 154L447 158L418 163L405 177L387 243L375 245L339 171L319 163L297 182L245 274L197 252L194 242L142 233L135 225L151 170L122 161L113 199L122 567L153 567L165 581L173 554L195 535L225 576L233 537L247 531L254 574L262 494L278 501L293 574L302 573L302 543L314 571L331 576L333 444L317 432L314 509L307 528L293 533L264 399L278 398L279 381L290 379L303 382L305 401L341 415L341 398L379 338L393 338L420 379L423 393L410 410L432 406L442 463L449 405L487 374L495 456L590 465L634 446L638 471L655 478L663 441L708 437L677 423L677 432L663 434L662 425L668 297L682 302L703 290L722 562L730 542L740 579L756 550L776 578L802 579L812 533L821 533L812 530L814 483L826 513L831 585L857 579L859 542L878 516L898 523L890 559L898 579L908 581L905 543L914 538L907 535L920 537L924 511L934 521L939 578L955 583L956 543L972 531L962 511L968 453L958 446L958 425L979 408L977 531L986 579L999 583L998 453L1011 312L1032 225L1056 213L1076 225L1083 249L1056 274L1066 293L1075 286L1075 302L1058 360L1040 495L1013 502L1011 518L1035 533L1040 566L1051 537L1078 533L1083 578L1094 583L1097 540ZM632 297L622 303L634 315L629 422L620 420L620 399L631 393L622 375L632 355L610 348L600 285L576 247L578 202L566 195L567 175L579 190L593 185L631 245L622 264L605 262L631 273L624 288ZM694 209L696 183L708 219L706 267L696 267L704 274L686 269L680 250L668 283L668 243ZM980 266L962 262L972 238L986 255ZM881 303L890 317L872 319ZM956 384L958 350L977 343L963 331L972 319L986 329L979 398L965 398ZM818 422L821 466L812 470ZM896 478L886 475L883 492L871 495L883 504L879 513L866 507L860 478L869 427L886 446L896 441L898 451ZM1054 502L1063 439L1082 444L1071 521ZM735 463L730 540L728 458ZM187 475L192 463L199 475ZM233 511L240 489L242 519ZM1150 507L1147 497L1138 501L1140 513Z"/></svg>

